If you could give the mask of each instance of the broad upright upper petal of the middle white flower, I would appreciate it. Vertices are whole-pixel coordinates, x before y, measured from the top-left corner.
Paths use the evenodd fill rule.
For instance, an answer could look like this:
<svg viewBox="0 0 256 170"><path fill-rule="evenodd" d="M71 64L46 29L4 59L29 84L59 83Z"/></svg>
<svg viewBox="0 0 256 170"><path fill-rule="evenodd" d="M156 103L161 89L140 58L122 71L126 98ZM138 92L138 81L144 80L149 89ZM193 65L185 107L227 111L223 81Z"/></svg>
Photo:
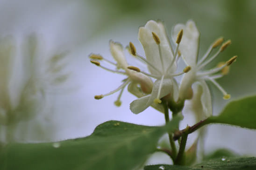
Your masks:
<svg viewBox="0 0 256 170"><path fill-rule="evenodd" d="M162 71L163 67L160 60L158 45L153 39L152 32L154 32L160 39L161 56L163 59L165 71L171 64L173 55L163 24L157 23L154 20L149 20L145 27L139 28L139 41L142 43L147 60L154 64L156 68L159 68L159 71ZM170 72L175 72L176 67L176 63L174 63L173 67L170 69ZM149 71L153 75L159 75L159 73L153 68L149 67Z"/></svg>

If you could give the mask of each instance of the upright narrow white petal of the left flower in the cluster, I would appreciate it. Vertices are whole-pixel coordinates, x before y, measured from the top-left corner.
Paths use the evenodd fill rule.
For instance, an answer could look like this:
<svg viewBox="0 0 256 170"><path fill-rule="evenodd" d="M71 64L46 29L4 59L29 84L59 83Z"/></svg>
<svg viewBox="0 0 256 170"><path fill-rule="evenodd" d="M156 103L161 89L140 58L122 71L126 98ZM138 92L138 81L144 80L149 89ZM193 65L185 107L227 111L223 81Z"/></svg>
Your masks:
<svg viewBox="0 0 256 170"><path fill-rule="evenodd" d="M122 45L114 41L109 41L109 47L118 67L127 70L128 63L125 59Z"/></svg>

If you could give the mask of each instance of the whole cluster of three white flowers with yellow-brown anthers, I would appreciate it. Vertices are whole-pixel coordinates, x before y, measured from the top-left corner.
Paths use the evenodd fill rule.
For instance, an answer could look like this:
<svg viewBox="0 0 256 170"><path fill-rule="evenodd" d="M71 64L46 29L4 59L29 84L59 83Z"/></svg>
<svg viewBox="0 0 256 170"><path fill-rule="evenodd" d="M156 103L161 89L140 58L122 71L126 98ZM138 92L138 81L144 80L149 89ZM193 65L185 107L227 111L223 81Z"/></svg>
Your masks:
<svg viewBox="0 0 256 170"><path fill-rule="evenodd" d="M105 95L95 95L95 99L101 99L121 90L117 101L115 101L115 104L120 106L121 94L126 85L129 84L128 91L138 97L130 104L130 109L135 114L142 112L149 106L163 112L160 103L184 103L187 100L192 105L195 105L195 103L200 105L204 116L207 117L212 115L212 102L206 81L212 82L220 89L224 99L230 98L230 95L216 82L216 79L228 73L229 66L236 60L237 56L232 57L227 62L220 63L216 68L203 70L207 64L231 44L230 40L224 42L223 38L217 39L206 51L206 54L198 60L199 31L192 20L189 20L185 25L177 24L172 30L171 40L162 22L149 20L144 27L139 28L138 38L146 57L142 57L136 52L132 42L129 43L128 51L145 63L149 72L128 65L122 46L113 41L110 41L110 50L116 63L103 58L99 54L90 55L93 64L114 73L127 75L127 79L119 88ZM218 48L217 52L211 55L215 48ZM182 72L177 73L177 63L180 58L187 66ZM113 64L116 69L102 66L100 60ZM183 75L183 78L178 84L175 77L179 75Z"/></svg>

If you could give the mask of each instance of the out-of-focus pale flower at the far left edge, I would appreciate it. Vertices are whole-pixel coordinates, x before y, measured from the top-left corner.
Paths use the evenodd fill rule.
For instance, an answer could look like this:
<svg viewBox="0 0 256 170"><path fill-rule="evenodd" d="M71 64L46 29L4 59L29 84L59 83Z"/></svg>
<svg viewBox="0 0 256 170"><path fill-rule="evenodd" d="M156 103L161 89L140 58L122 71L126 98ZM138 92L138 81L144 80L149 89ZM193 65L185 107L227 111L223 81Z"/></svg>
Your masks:
<svg viewBox="0 0 256 170"><path fill-rule="evenodd" d="M7 130L45 110L46 92L68 77L62 73L65 55L45 56L40 45L35 35L21 46L12 37L0 38L0 125ZM10 142L14 134L6 135Z"/></svg>

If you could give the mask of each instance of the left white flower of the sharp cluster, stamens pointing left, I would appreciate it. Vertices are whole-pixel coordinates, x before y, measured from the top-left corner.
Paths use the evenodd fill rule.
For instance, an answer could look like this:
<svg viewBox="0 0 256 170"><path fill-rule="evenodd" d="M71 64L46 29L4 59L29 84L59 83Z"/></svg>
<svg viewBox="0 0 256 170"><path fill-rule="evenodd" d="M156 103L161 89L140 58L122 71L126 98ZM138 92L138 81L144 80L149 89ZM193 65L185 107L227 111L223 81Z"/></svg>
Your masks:
<svg viewBox="0 0 256 170"><path fill-rule="evenodd" d="M139 68L136 68L134 66L129 66L126 59L125 59L125 55L124 55L124 52L123 52L123 47L121 46L121 44L117 43L117 42L114 42L114 41L110 41L109 42L109 47L110 47L110 51L111 51L111 54L114 58L114 60L117 62L117 63L114 63L112 61L109 61L107 60L106 58L103 58L101 55L99 54L91 54L89 57L92 59L91 62L93 64L95 64L96 66L99 66L103 69L106 69L107 71L111 71L113 73L118 73L118 74L122 74L122 75L126 75L127 78L124 80L124 82L121 84L121 86L119 86L118 88L116 88L115 90L107 93L107 94L104 94L104 95L95 95L94 98L95 99L101 99L107 95L112 95L118 91L121 91L120 94L118 95L118 98L117 100L114 102L114 104L116 106L120 106L121 105L121 101L120 101L120 98L121 98L121 95L123 93L123 90L124 88L130 83L129 85L129 89L131 91L133 91L134 93L136 93L134 91L135 89L135 86L137 87L137 84L140 85L140 88L142 90L142 94L149 94L151 93L152 91L152 87L153 87L153 82L152 80L147 76L147 75L144 75L142 73L139 73L140 70ZM135 48L133 49L135 50ZM102 66L100 64L100 60L103 60L103 61L107 61L108 63L114 65L117 69L110 69L110 68L106 68L104 66ZM124 71L120 71L118 69L122 69Z"/></svg>

